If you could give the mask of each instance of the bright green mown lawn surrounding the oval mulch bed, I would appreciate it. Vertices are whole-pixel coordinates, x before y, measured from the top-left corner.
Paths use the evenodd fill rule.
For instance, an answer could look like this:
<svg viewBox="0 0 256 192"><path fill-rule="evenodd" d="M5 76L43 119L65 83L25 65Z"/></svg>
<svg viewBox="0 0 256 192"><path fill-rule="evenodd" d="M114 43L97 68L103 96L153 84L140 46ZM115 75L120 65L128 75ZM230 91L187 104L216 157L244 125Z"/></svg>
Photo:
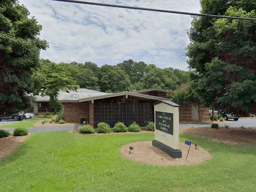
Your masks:
<svg viewBox="0 0 256 192"><path fill-rule="evenodd" d="M255 191L256 146L181 135L182 141L197 142L213 158L202 165L161 167L120 156L120 146L152 138L153 133L32 134L0 160L0 191Z"/></svg>

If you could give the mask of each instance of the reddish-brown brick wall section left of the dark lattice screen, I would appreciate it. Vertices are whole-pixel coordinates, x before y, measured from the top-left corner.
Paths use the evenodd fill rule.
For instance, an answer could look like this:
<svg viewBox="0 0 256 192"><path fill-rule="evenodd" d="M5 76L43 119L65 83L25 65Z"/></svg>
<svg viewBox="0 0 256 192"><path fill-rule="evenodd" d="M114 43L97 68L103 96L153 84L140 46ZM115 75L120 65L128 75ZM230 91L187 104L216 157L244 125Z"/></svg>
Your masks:
<svg viewBox="0 0 256 192"><path fill-rule="evenodd" d="M85 118L89 123L89 104L82 103L63 103L64 119L67 123L78 123L81 118Z"/></svg>

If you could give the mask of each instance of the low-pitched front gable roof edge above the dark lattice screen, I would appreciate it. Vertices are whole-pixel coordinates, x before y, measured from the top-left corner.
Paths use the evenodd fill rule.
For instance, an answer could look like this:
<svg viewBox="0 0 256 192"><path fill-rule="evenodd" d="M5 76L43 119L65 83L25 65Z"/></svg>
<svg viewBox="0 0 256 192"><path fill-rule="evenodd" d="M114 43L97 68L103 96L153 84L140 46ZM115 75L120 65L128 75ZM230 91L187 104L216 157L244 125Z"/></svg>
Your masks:
<svg viewBox="0 0 256 192"><path fill-rule="evenodd" d="M106 94L106 95L82 98L82 99L79 99L79 102L84 102L84 101L89 101L89 100L99 100L99 99L105 99L105 98L116 97L116 96L126 96L126 95L140 97L140 98L144 98L144 99L151 99L151 100L169 100L169 99L166 99L163 97L150 96L150 95L140 94L140 93L136 93L136 92L118 92L118 93L111 93L111 94Z"/></svg>

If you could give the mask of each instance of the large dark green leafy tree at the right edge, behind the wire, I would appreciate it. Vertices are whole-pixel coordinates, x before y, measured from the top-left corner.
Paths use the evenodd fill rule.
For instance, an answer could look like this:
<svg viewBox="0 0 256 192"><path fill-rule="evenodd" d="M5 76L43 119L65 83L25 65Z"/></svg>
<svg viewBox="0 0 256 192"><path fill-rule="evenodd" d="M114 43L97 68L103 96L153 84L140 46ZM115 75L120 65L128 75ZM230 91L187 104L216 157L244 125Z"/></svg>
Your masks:
<svg viewBox="0 0 256 192"><path fill-rule="evenodd" d="M247 1L248 2L248 1ZM255 3L202 0L202 13L255 18ZM188 64L198 94L213 108L237 115L256 112L256 23L195 17Z"/></svg>

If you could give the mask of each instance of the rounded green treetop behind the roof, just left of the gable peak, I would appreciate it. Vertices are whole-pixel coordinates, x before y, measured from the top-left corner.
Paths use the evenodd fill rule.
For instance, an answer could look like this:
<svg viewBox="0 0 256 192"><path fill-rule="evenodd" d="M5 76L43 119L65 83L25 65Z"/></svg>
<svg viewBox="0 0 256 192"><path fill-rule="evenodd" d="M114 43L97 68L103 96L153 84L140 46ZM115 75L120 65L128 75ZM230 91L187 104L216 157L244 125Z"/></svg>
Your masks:
<svg viewBox="0 0 256 192"><path fill-rule="evenodd" d="M122 92L131 85L129 76L120 67L103 65L99 69L99 84L103 92Z"/></svg>

